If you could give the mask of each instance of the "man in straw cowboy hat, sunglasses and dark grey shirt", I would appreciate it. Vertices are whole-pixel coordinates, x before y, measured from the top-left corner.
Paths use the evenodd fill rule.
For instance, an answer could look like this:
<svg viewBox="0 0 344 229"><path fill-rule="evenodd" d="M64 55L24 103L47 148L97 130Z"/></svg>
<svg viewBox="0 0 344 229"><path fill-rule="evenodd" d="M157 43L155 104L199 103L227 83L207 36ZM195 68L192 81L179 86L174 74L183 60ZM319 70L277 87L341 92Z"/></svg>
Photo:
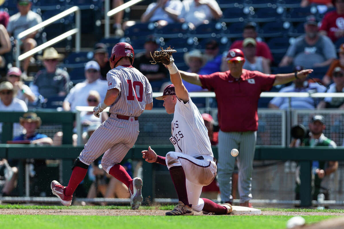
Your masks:
<svg viewBox="0 0 344 229"><path fill-rule="evenodd" d="M46 48L43 53L44 70L38 71L30 88L36 96L44 98L52 96L65 96L69 92L68 72L57 68L58 61L63 59L55 48Z"/></svg>

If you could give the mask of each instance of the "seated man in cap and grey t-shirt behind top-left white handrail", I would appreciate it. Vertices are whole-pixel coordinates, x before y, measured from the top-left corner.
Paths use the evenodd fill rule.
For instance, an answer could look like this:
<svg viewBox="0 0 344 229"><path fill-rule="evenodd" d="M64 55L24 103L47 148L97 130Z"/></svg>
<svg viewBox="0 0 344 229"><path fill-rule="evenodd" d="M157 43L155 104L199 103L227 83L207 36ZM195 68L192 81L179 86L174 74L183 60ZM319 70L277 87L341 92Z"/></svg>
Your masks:
<svg viewBox="0 0 344 229"><path fill-rule="evenodd" d="M19 13L14 14L10 17L7 25L7 31L10 36L17 39L19 33L39 24L42 22L42 18L39 14L31 11L32 2L31 0L18 0L17 8ZM35 41L37 31L22 38L19 42L24 52L27 52L37 46ZM23 77L27 77L27 71L30 64L30 57L26 58L23 63Z"/></svg>

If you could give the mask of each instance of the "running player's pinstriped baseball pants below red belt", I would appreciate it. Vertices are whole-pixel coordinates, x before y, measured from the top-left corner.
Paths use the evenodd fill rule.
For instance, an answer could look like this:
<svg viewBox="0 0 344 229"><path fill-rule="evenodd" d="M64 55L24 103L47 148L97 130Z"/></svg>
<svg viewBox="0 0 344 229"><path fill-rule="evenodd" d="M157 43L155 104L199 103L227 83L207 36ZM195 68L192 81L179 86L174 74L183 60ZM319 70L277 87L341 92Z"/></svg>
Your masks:
<svg viewBox="0 0 344 229"><path fill-rule="evenodd" d="M104 153L101 165L109 173L111 167L120 163L133 147L138 135L139 121L134 117L129 120L109 117L88 139L79 159L89 165Z"/></svg>

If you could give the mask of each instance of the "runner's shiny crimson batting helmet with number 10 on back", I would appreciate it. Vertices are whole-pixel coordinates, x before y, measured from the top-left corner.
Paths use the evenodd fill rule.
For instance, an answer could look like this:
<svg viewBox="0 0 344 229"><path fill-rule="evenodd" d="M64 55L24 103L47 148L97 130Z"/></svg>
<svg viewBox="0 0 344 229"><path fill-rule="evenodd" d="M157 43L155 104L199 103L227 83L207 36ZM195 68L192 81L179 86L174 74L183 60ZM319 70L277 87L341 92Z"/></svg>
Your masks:
<svg viewBox="0 0 344 229"><path fill-rule="evenodd" d="M117 62L123 57L129 57L129 59L131 60L131 65L133 64L135 57L134 49L129 43L126 42L117 43L112 48L111 57L109 59L110 67L114 68Z"/></svg>

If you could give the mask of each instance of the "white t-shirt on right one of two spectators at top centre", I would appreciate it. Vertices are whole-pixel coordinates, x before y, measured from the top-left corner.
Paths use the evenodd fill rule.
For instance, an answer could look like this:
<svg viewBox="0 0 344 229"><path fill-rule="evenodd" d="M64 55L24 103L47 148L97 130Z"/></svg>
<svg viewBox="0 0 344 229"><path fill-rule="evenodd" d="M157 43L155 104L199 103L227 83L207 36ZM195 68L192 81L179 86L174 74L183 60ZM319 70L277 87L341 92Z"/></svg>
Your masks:
<svg viewBox="0 0 344 229"><path fill-rule="evenodd" d="M221 11L215 0L206 0L216 11ZM213 19L213 14L210 8L206 5L196 6L194 0L184 0L182 12L178 16L179 19L184 18L186 23L191 22L195 26L203 24L204 20Z"/></svg>

